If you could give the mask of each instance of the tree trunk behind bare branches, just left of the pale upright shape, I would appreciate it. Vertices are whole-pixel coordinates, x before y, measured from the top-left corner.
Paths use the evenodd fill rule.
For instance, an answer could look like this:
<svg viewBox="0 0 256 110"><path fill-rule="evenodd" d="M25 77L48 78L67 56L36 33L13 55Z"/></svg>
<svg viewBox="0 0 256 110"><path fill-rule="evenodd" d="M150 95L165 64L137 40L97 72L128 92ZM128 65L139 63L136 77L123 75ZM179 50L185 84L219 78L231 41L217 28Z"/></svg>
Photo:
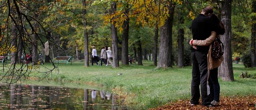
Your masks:
<svg viewBox="0 0 256 110"><path fill-rule="evenodd" d="M38 36L33 34L32 44L32 65L38 65Z"/></svg>

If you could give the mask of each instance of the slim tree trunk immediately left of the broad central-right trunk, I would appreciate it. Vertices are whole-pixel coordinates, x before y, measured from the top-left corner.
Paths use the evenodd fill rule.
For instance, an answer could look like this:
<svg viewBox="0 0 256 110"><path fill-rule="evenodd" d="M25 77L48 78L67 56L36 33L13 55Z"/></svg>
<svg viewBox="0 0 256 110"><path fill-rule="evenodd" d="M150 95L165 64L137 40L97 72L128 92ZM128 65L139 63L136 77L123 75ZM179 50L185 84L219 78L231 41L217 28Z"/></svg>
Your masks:
<svg viewBox="0 0 256 110"><path fill-rule="evenodd" d="M157 66L157 48L158 48L158 27L155 28L154 47L153 47L153 65Z"/></svg>

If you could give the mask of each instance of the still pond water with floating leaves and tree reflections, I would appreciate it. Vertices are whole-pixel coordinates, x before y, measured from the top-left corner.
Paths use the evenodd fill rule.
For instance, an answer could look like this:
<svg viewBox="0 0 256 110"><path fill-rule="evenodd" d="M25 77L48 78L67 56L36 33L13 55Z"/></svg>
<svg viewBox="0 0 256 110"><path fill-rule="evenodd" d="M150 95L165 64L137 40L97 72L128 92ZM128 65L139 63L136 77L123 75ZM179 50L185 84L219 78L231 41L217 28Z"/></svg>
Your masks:
<svg viewBox="0 0 256 110"><path fill-rule="evenodd" d="M110 92L53 86L0 85L0 110L116 110Z"/></svg>

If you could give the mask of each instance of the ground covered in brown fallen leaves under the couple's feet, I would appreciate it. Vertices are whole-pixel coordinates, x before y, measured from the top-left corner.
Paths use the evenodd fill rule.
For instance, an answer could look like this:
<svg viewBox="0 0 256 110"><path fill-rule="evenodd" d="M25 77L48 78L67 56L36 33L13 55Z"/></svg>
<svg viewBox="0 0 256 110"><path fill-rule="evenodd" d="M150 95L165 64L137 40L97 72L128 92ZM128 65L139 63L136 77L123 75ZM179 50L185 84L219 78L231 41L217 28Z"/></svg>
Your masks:
<svg viewBox="0 0 256 110"><path fill-rule="evenodd" d="M178 100L150 110L256 110L256 96L220 97L217 107L202 107L200 104L191 107L189 100Z"/></svg>

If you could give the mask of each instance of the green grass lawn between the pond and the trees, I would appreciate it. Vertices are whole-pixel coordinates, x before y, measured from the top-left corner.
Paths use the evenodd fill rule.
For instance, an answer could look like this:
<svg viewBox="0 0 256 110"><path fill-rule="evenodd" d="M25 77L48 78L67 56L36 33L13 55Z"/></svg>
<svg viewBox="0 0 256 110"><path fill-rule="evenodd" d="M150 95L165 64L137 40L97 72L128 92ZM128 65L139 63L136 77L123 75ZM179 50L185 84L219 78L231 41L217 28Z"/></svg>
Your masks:
<svg viewBox="0 0 256 110"><path fill-rule="evenodd" d="M129 65L120 68L111 66L84 67L83 62L72 66L60 64L59 74L53 73L52 80L63 83L79 83L103 86L119 95L123 104L131 109L147 109L190 98L191 66L184 68L155 69L152 61L143 61L143 66ZM50 64L46 65L51 67ZM43 68L41 68L43 69ZM256 68L245 68L233 64L235 81L220 81L220 94L256 95L256 79L240 79L241 72L256 74ZM122 73L122 75L117 75ZM49 78L51 75L49 76ZM42 74L32 72L31 79L42 78ZM48 80L42 80L47 82Z"/></svg>

